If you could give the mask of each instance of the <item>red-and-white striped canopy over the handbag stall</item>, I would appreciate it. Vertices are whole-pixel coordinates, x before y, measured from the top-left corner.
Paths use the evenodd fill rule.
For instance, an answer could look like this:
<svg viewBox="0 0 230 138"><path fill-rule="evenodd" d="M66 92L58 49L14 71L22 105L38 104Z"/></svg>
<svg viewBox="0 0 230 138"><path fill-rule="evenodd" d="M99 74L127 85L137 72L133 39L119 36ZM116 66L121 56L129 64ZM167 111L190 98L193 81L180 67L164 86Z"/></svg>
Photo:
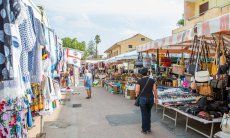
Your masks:
<svg viewBox="0 0 230 138"><path fill-rule="evenodd" d="M197 33L195 33L195 31ZM189 28L185 31L172 34L171 36L162 39L157 39L144 45L137 46L137 51L143 52L156 49L165 49L170 50L172 53L181 53L181 50L189 51L187 49L192 45L195 34L197 34L198 37L205 36L208 44L214 45L212 34L220 32L226 34L229 33L229 31L230 14L228 13L217 18L198 23L193 28Z"/></svg>

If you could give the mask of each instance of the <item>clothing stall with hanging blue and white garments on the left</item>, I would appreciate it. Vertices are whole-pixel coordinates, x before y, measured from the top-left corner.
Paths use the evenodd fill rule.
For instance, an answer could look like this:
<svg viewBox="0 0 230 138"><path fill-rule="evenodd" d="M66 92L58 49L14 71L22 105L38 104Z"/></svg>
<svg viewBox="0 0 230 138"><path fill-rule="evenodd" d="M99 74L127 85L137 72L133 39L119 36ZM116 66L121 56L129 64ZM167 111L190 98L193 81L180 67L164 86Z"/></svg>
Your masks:
<svg viewBox="0 0 230 138"><path fill-rule="evenodd" d="M0 137L27 137L33 117L57 107L60 87L53 76L62 45L31 0L4 1L0 8L7 9L0 17Z"/></svg>

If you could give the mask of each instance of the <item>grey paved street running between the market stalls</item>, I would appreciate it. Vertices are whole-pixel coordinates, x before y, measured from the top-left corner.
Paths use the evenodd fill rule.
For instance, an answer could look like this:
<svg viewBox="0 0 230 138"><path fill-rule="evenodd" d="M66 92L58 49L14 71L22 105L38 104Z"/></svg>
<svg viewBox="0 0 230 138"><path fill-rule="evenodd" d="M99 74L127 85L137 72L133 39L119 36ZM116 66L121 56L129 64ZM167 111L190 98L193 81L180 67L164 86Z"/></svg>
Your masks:
<svg viewBox="0 0 230 138"><path fill-rule="evenodd" d="M143 135L140 132L140 110L133 105L134 101L122 95L110 94L104 88L93 88L90 100L85 99L83 89L76 91L78 93L71 95L70 101L64 102L51 116L44 117L47 138L201 137L195 132L186 133L183 124L174 128L172 121L162 121L162 113L156 113L155 110L152 111L153 133ZM73 104L81 104L81 107L73 108ZM31 130L30 137L34 135L35 130Z"/></svg>

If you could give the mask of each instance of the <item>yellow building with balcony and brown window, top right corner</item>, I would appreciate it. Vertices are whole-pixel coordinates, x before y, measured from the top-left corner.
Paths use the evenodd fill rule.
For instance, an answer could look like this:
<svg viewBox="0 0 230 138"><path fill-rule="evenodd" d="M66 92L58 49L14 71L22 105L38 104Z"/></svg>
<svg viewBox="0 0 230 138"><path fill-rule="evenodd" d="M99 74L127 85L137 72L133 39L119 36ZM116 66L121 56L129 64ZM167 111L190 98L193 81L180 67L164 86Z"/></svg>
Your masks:
<svg viewBox="0 0 230 138"><path fill-rule="evenodd" d="M173 30L173 33L226 13L230 13L230 0L184 0L185 25Z"/></svg>

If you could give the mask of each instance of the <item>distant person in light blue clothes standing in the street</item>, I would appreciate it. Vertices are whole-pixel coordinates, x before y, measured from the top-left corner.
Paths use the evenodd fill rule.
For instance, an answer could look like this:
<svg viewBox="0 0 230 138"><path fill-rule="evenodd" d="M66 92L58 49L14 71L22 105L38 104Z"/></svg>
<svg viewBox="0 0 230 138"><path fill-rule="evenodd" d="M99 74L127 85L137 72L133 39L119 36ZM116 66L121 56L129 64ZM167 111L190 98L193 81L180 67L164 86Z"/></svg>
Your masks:
<svg viewBox="0 0 230 138"><path fill-rule="evenodd" d="M84 86L87 92L87 97L86 99L91 98L92 94L92 74L89 70L85 70L85 76L84 76Z"/></svg>

